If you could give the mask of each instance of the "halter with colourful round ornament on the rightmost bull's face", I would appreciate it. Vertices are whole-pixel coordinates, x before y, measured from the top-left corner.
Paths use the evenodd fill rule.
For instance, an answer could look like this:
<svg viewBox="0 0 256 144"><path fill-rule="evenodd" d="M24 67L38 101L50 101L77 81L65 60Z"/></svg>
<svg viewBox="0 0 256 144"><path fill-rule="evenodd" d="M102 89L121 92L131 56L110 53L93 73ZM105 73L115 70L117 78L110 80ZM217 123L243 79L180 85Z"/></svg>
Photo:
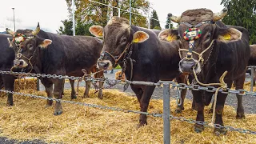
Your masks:
<svg viewBox="0 0 256 144"><path fill-rule="evenodd" d="M186 60L190 60L190 59L194 60L192 54L197 54L198 55L198 62L202 61L202 65L203 65L204 59L202 58L202 54L204 54L207 50L209 50L214 45L214 40L212 40L210 42L210 46L208 46L206 48L206 50L203 50L201 53L198 53L198 52L194 51L193 49L194 49L194 40L200 38L201 34L202 34L201 30L199 30L197 27L202 26L203 24L206 24L206 23L214 24L213 21L204 21L204 22L198 23L197 25L191 25L188 22L181 22L181 24L185 24L186 26L189 27L189 29L187 29L184 32L183 38L186 39L187 41L190 41L190 42L189 42L189 49L188 50L187 49L179 49L178 50L180 58L182 58L181 51L187 51L186 57L182 58L182 59L186 59Z"/></svg>

